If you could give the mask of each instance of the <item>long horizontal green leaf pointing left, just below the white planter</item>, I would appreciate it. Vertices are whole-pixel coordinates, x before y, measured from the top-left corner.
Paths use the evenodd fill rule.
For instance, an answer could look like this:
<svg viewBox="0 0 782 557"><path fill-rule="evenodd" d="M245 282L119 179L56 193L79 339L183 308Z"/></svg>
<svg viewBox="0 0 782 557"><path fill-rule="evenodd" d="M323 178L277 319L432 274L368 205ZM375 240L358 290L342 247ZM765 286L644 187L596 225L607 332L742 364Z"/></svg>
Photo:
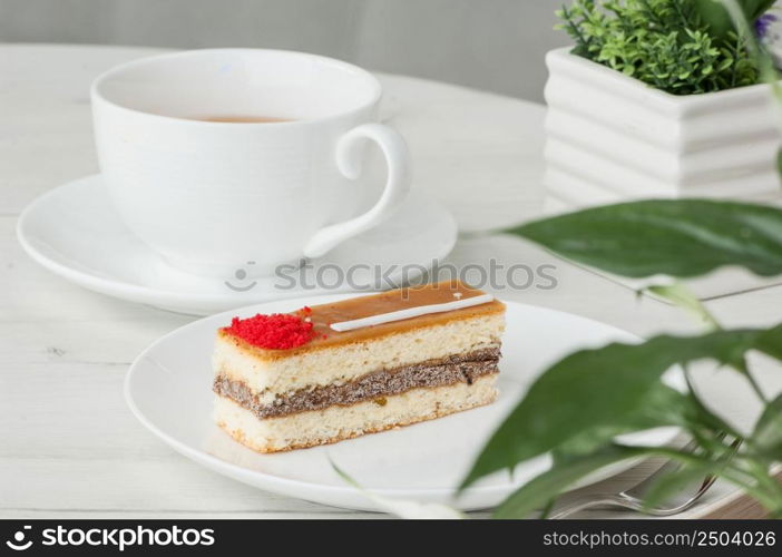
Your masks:
<svg viewBox="0 0 782 557"><path fill-rule="evenodd" d="M705 199L595 207L510 231L579 263L633 277L724 265L782 274L782 209Z"/></svg>

